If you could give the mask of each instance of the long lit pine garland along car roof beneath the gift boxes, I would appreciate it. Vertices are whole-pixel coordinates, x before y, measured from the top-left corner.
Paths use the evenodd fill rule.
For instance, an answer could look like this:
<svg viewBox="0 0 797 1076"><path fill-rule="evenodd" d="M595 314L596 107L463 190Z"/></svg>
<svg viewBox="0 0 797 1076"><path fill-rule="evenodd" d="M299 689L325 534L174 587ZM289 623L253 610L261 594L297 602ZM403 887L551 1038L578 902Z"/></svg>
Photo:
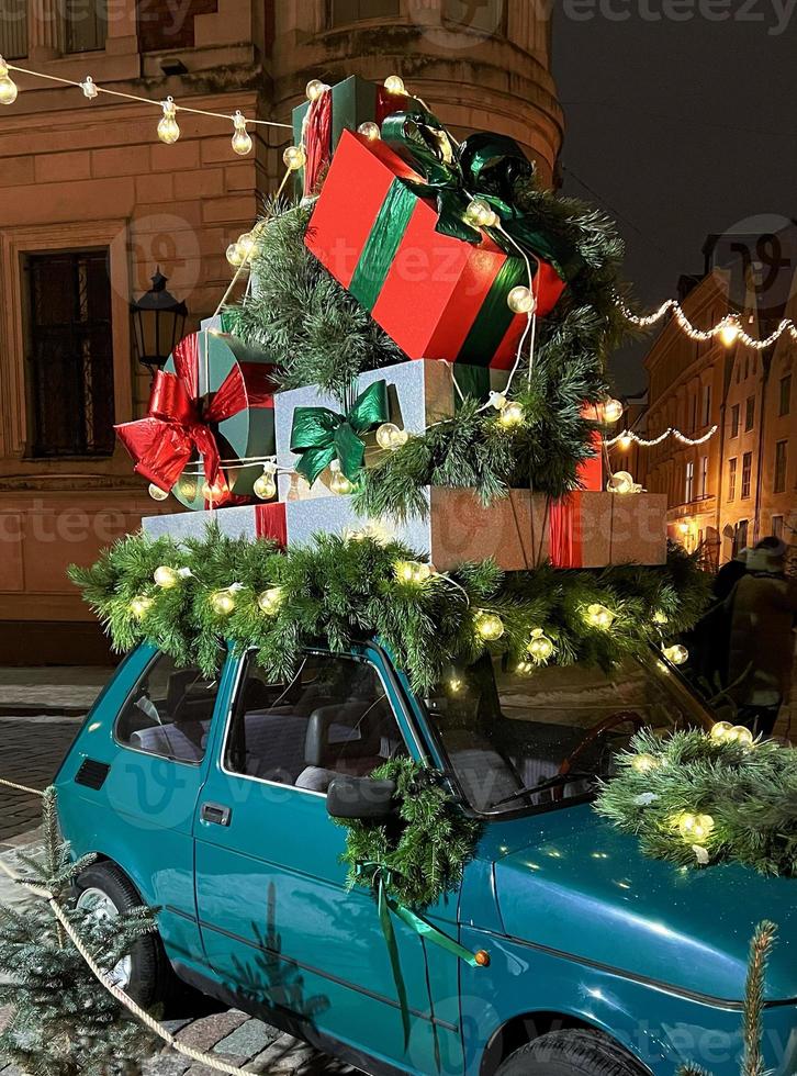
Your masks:
<svg viewBox="0 0 797 1076"><path fill-rule="evenodd" d="M504 573L487 560L444 575L397 542L318 535L282 552L216 527L182 542L128 536L69 575L117 651L151 642L212 675L226 639L236 652L254 648L277 681L319 639L344 651L379 637L416 691L485 649L530 675L545 661L611 669L689 628L709 583L677 547L661 568Z"/></svg>

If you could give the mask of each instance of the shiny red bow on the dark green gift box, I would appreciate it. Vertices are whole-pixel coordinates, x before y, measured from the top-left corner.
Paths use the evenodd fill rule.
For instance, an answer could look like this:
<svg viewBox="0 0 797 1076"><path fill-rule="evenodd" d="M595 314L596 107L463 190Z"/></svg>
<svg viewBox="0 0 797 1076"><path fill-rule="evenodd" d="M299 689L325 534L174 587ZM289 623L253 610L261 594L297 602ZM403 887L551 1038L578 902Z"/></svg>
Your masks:
<svg viewBox="0 0 797 1076"><path fill-rule="evenodd" d="M199 396L198 337L182 340L173 352L175 373L158 370L146 418L116 426L116 434L135 461L135 471L161 490L170 490L195 452L201 453L209 485L222 500L226 480L211 423L229 418L247 406L244 374L235 366L218 390Z"/></svg>

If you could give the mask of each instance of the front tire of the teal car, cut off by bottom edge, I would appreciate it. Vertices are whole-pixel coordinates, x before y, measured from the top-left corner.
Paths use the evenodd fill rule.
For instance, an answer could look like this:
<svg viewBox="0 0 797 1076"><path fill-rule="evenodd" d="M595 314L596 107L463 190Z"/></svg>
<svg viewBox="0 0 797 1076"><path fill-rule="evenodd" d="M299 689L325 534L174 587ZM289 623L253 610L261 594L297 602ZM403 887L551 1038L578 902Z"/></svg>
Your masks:
<svg viewBox="0 0 797 1076"><path fill-rule="evenodd" d="M599 1031L552 1031L527 1043L498 1066L495 1076L644 1076Z"/></svg>

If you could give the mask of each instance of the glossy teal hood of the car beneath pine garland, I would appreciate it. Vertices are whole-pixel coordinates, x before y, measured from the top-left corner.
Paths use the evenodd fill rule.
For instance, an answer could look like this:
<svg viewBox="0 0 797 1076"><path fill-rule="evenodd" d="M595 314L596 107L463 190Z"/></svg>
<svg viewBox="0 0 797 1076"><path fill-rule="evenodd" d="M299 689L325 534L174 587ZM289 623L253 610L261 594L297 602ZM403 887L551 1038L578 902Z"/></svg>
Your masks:
<svg viewBox="0 0 797 1076"><path fill-rule="evenodd" d="M636 838L590 805L502 823L491 843L507 934L706 999L740 1001L750 939L770 919L778 941L767 999L797 998L797 879L647 859Z"/></svg>

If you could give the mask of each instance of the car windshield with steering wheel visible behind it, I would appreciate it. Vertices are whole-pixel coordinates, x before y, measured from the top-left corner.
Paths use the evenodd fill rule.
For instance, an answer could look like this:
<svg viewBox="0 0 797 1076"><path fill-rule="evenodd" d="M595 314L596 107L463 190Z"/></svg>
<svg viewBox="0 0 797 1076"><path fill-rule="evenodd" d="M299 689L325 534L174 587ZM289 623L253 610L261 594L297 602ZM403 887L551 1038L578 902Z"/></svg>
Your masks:
<svg viewBox="0 0 797 1076"><path fill-rule="evenodd" d="M611 776L639 729L664 736L714 718L663 661L628 660L611 673L549 665L530 674L482 658L424 704L450 769L482 814L563 804Z"/></svg>

